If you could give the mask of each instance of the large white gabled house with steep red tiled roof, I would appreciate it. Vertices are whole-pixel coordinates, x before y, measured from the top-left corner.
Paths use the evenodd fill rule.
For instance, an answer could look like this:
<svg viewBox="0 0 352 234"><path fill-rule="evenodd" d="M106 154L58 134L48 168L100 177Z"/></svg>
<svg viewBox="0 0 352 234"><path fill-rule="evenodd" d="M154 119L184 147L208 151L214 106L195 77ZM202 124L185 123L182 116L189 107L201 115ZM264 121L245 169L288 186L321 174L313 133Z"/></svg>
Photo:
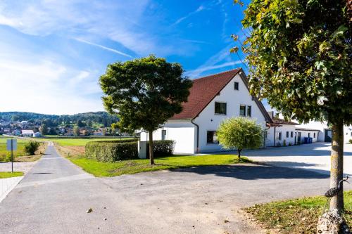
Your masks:
<svg viewBox="0 0 352 234"><path fill-rule="evenodd" d="M194 79L182 112L154 131L153 140L175 141L176 153L221 151L216 137L220 122L239 116L256 119L263 129L272 122L263 104L250 95L240 68ZM148 140L148 134L142 132L141 141Z"/></svg>

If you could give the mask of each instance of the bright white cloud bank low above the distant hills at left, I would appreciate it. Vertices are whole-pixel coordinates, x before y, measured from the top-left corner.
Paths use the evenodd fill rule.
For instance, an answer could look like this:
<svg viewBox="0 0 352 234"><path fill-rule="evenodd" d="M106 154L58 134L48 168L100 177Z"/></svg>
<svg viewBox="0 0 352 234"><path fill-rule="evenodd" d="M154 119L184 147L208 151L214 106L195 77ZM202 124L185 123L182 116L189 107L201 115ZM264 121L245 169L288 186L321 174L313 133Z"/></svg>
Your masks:
<svg viewBox="0 0 352 234"><path fill-rule="evenodd" d="M51 58L0 57L0 111L73 114L103 110L97 79L94 71L75 70Z"/></svg>

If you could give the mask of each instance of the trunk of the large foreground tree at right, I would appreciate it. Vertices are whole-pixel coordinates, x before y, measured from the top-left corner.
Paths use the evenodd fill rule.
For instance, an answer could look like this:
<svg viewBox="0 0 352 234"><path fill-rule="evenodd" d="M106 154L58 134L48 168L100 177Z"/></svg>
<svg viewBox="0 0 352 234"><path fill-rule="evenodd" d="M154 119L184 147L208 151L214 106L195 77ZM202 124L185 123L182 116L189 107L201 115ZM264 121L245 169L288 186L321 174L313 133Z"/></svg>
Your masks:
<svg viewBox="0 0 352 234"><path fill-rule="evenodd" d="M344 176L344 123L342 121L332 125L332 150L330 188L337 188ZM344 186L339 194L332 197L330 210L337 209L339 214L344 210Z"/></svg>

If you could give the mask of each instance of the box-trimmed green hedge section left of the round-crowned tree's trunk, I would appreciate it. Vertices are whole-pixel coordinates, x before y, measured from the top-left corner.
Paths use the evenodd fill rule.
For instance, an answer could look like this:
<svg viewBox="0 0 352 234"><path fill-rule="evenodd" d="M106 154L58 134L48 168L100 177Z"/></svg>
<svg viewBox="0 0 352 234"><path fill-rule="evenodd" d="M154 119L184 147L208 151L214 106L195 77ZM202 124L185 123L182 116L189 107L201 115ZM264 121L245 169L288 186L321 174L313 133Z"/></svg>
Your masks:
<svg viewBox="0 0 352 234"><path fill-rule="evenodd" d="M85 146L85 157L97 162L136 159L138 157L137 141L92 141Z"/></svg>

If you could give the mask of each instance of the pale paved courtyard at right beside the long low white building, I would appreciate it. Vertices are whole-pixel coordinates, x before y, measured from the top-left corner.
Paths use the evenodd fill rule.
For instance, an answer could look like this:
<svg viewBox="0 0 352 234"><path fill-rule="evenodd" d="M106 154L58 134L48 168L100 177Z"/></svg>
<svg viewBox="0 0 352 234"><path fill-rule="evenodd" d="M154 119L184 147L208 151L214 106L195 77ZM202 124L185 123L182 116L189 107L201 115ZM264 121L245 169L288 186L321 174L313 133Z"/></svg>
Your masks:
<svg viewBox="0 0 352 234"><path fill-rule="evenodd" d="M247 150L243 155L256 162L277 167L301 168L330 173L331 143L312 143L287 147ZM234 152L236 153L236 152ZM344 144L344 174L352 175L352 144Z"/></svg>

